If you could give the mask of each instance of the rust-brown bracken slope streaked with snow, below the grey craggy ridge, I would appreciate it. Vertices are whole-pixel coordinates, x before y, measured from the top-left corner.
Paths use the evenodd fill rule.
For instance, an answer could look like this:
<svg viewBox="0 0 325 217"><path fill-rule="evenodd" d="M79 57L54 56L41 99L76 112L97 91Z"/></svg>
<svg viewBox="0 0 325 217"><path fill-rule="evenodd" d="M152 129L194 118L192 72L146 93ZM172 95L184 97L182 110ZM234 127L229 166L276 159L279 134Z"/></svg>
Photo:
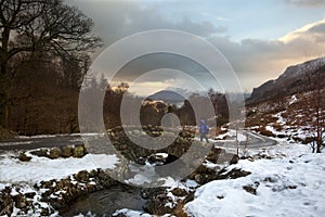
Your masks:
<svg viewBox="0 0 325 217"><path fill-rule="evenodd" d="M313 144L316 140L317 116L325 119L325 88L265 100L246 107L246 127L264 136L287 138L291 142ZM320 110L317 115L317 105Z"/></svg>

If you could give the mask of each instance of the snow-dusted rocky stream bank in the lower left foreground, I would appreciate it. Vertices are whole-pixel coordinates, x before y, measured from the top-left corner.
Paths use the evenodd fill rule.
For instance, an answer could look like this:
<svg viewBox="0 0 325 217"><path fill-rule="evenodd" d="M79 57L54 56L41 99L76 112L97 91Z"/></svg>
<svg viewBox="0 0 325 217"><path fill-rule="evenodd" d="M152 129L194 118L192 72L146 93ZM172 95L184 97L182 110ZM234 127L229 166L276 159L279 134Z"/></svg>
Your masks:
<svg viewBox="0 0 325 217"><path fill-rule="evenodd" d="M80 195L116 184L121 183L112 179L104 170L94 169L82 170L61 180L41 181L28 192L20 186L8 186L0 191L0 215L26 216L32 213L49 216L67 207ZM13 213L15 209L18 210Z"/></svg>

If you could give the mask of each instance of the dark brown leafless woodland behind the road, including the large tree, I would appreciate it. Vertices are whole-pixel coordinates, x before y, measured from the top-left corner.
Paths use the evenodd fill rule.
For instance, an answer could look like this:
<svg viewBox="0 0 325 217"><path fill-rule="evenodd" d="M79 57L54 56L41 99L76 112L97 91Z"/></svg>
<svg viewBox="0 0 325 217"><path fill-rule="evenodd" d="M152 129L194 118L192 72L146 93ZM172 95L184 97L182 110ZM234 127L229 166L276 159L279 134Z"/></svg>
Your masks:
<svg viewBox="0 0 325 217"><path fill-rule="evenodd" d="M128 92L126 82L110 88L105 78L86 76L91 53L103 47L92 28L89 17L62 0L0 1L0 125L3 128L21 135L78 132L78 98L83 79L94 99L96 91L106 91L103 117L107 128L120 125L123 97L142 103L142 124L160 125L166 113L177 114L182 125L196 124L187 100L181 107L150 100L144 103L145 99ZM218 123L225 123L225 95L211 89L209 97ZM198 102L207 100L199 94L190 98Z"/></svg>

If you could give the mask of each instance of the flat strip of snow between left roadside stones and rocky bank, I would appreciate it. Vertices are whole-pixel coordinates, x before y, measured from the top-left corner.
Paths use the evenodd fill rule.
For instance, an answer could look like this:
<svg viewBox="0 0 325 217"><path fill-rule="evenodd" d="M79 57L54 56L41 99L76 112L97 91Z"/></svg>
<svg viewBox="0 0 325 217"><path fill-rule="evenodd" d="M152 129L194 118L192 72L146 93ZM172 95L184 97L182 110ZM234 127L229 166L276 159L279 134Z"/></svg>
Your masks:
<svg viewBox="0 0 325 217"><path fill-rule="evenodd" d="M42 180L66 178L83 169L114 168L117 163L118 158L115 155L105 154L56 159L32 155L30 162L21 162L14 154L6 153L0 155L0 190L1 186L6 183L32 186Z"/></svg>

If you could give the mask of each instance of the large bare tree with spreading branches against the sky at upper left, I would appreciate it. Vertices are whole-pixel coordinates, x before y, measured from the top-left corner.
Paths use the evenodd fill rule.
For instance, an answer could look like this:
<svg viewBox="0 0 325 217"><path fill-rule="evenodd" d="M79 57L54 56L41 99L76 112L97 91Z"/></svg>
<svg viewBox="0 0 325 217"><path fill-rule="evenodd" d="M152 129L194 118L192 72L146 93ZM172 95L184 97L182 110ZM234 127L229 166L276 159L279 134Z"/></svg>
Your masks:
<svg viewBox="0 0 325 217"><path fill-rule="evenodd" d="M14 74L9 63L20 53L51 52L69 56L94 51L101 39L93 23L62 0L0 0L0 124L8 126L10 87Z"/></svg>

